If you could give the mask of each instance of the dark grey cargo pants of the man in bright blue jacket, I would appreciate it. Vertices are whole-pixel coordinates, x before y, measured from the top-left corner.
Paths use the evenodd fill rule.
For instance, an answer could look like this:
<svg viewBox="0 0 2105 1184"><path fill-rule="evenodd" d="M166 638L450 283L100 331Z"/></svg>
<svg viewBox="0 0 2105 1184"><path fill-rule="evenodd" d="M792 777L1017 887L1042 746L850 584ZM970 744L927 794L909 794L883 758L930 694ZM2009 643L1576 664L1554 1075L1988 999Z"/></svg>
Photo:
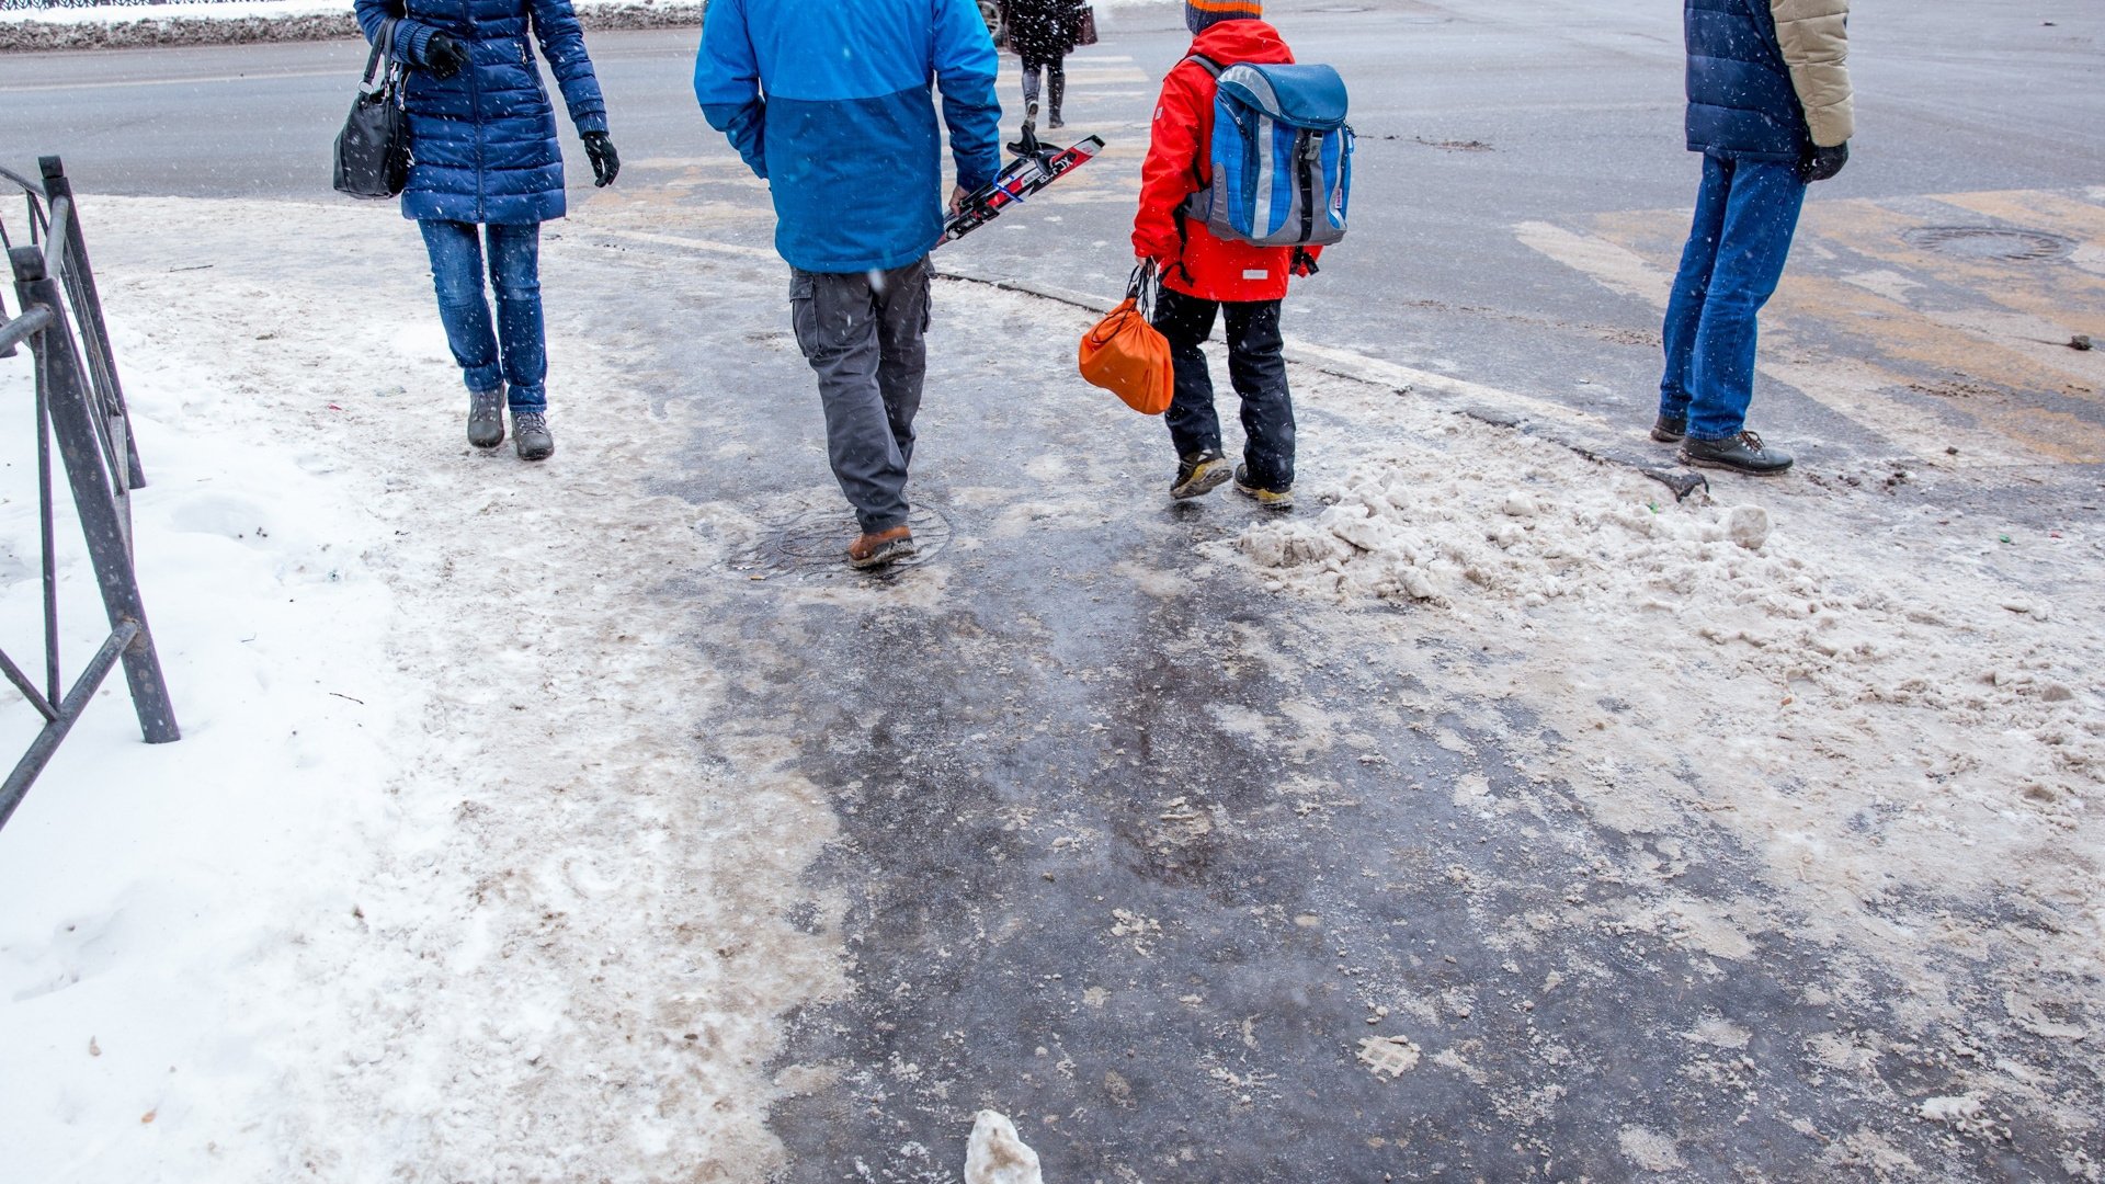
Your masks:
<svg viewBox="0 0 2105 1184"><path fill-rule="evenodd" d="M863 531L903 527L914 413L928 377L928 257L890 272L791 268L789 324L819 373L840 491Z"/></svg>

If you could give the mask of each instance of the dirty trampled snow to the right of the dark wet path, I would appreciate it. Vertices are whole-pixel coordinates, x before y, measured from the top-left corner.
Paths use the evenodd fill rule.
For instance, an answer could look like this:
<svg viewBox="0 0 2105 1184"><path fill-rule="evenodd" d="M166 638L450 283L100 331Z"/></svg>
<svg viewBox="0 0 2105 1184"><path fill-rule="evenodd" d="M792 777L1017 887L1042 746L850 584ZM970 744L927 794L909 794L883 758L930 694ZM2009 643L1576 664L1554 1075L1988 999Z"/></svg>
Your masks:
<svg viewBox="0 0 2105 1184"><path fill-rule="evenodd" d="M2017 891L2078 931L2008 927L1979 954L2094 973L2101 539L1977 522L1943 499L1844 497L1812 466L1724 474L1678 504L1638 470L1465 430L1419 400L1330 383L1307 398L1366 442L1335 480L1299 482L1301 514L1202 550L1278 594L1400 609L1339 653L1440 638L1427 685L1526 704L1562 737L1528 763L1539 784L1568 782L1623 830L1671 832L1690 811L1726 826L1806 910L1617 925L1709 925L1724 946L1743 942L1735 927L1808 925L1869 938L1930 984L1937 954L1867 910ZM1471 723L1535 744L1497 714ZM2019 1003L2040 988L2014 971L2010 986ZM1939 990L1907 1007L1953 1013Z"/></svg>

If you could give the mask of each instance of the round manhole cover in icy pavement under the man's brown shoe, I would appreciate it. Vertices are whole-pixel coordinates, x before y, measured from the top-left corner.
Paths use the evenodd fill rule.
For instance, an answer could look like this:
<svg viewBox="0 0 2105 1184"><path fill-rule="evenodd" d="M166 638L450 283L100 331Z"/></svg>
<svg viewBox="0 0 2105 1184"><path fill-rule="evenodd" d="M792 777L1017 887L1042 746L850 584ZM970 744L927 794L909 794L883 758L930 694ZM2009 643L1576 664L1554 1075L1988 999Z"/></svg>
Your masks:
<svg viewBox="0 0 2105 1184"><path fill-rule="evenodd" d="M914 529L911 556L882 571L922 567L949 546L949 514L941 506L918 504L907 512ZM874 573L848 567L855 514L838 489L802 489L705 518L695 529L720 546L716 573L726 579L869 579Z"/></svg>

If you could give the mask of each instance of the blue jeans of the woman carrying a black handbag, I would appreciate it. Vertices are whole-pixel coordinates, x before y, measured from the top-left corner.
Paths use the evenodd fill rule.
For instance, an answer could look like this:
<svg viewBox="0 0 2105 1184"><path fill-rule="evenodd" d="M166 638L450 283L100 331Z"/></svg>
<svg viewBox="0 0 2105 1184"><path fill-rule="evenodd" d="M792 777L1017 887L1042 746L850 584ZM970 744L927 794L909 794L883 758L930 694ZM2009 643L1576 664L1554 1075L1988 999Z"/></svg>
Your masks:
<svg viewBox="0 0 2105 1184"><path fill-rule="evenodd" d="M547 409L547 341L541 329L541 223L484 225L490 242L490 287L497 327L482 295L482 236L469 221L419 221L432 253L432 284L446 343L467 390L512 383L512 411ZM497 343L503 341L503 354ZM499 360L501 358L501 360Z"/></svg>

